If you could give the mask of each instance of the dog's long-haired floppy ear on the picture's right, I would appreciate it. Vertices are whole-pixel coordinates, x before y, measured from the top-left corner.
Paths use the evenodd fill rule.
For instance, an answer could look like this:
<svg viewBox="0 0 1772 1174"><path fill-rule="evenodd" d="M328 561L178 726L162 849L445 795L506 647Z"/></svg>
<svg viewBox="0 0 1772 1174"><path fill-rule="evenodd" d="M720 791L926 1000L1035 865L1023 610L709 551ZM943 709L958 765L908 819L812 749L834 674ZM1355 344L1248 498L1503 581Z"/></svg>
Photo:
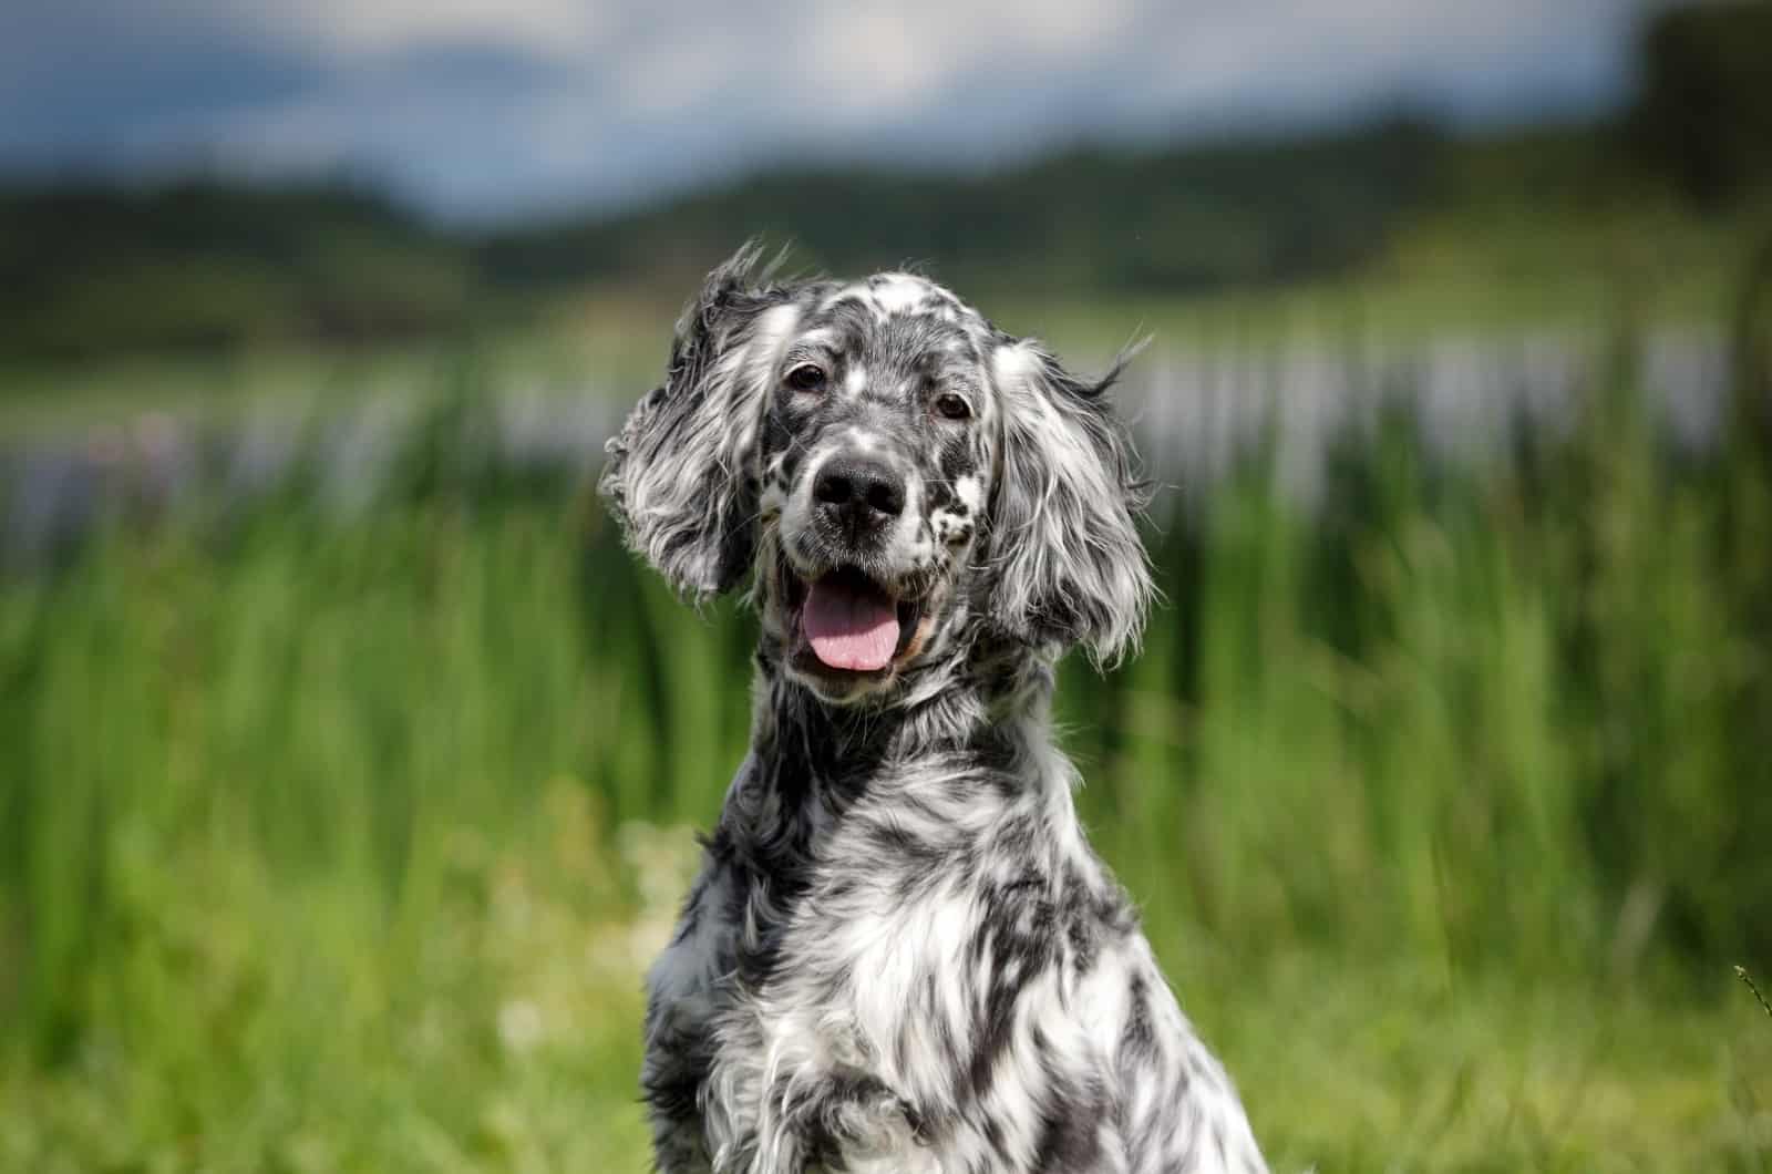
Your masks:
<svg viewBox="0 0 1772 1174"><path fill-rule="evenodd" d="M1127 358L1092 381L1033 340L991 355L1003 411L989 612L1031 644L1083 644L1099 667L1138 644L1155 594L1134 521L1146 491L1106 397Z"/></svg>

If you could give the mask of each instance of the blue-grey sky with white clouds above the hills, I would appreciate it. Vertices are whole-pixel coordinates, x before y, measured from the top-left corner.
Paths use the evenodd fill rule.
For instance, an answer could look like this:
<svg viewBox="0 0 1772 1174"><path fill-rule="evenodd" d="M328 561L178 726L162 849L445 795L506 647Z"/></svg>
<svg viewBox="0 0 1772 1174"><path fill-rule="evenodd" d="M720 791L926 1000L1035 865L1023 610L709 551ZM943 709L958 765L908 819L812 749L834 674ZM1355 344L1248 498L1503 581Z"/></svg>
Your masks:
<svg viewBox="0 0 1772 1174"><path fill-rule="evenodd" d="M347 170L445 216L1409 103L1579 113L1653 0L5 0L0 170Z"/></svg>

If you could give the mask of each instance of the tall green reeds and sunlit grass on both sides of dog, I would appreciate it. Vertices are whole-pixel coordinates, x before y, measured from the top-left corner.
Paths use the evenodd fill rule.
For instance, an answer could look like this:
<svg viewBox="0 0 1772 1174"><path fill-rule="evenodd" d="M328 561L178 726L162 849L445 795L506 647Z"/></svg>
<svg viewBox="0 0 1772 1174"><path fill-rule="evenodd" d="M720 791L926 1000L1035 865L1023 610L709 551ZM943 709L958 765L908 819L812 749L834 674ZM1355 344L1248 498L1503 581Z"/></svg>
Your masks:
<svg viewBox="0 0 1772 1174"><path fill-rule="evenodd" d="M1462 472L1398 408L1322 513L1253 452L1152 528L1143 656L1067 667L1276 1169L1772 1170L1772 445L1634 392ZM360 516L298 479L0 583L0 1169L643 1169L750 626L429 436Z"/></svg>

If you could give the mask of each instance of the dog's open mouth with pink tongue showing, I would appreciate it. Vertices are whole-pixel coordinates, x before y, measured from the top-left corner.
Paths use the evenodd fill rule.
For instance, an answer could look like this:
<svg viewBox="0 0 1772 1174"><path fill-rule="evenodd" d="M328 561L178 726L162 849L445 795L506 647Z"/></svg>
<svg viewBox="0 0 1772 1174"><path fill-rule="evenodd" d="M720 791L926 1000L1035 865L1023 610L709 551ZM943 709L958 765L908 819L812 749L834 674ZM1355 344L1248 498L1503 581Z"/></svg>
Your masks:
<svg viewBox="0 0 1772 1174"><path fill-rule="evenodd" d="M911 647L920 607L865 571L842 566L804 580L781 567L794 663L822 676L884 676Z"/></svg>

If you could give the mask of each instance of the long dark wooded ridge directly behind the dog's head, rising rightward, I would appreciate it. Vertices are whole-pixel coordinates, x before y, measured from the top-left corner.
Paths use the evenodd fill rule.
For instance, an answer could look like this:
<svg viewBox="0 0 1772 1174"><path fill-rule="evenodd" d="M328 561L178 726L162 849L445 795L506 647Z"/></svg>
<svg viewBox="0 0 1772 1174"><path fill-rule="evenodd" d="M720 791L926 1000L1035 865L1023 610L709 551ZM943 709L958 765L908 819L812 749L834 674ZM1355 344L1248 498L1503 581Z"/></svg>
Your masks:
<svg viewBox="0 0 1772 1174"><path fill-rule="evenodd" d="M500 284L680 286L760 232L840 273L939 257L943 278L968 289L1265 284L1373 257L1449 149L1426 124L1395 121L1325 138L1077 149L982 176L787 167L604 222L493 236L480 255Z"/></svg>

